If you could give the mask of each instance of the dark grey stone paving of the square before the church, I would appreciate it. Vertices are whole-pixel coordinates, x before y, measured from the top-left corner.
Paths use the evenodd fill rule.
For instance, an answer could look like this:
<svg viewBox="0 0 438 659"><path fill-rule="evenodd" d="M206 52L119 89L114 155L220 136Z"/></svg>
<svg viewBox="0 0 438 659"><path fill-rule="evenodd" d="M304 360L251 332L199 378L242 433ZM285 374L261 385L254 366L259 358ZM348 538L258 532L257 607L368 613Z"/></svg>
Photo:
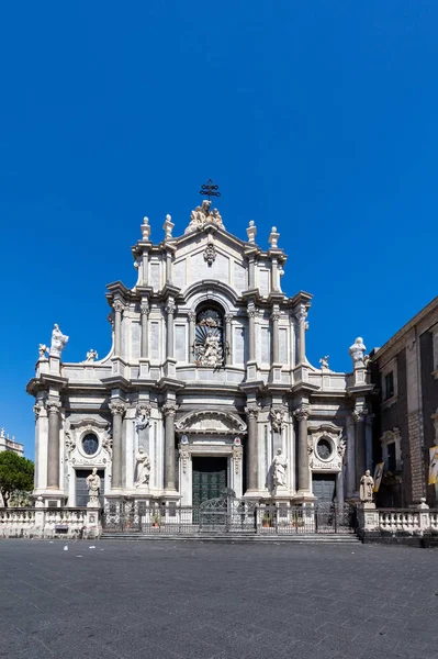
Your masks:
<svg viewBox="0 0 438 659"><path fill-rule="evenodd" d="M9 659L438 658L435 549L3 540L0 565Z"/></svg>

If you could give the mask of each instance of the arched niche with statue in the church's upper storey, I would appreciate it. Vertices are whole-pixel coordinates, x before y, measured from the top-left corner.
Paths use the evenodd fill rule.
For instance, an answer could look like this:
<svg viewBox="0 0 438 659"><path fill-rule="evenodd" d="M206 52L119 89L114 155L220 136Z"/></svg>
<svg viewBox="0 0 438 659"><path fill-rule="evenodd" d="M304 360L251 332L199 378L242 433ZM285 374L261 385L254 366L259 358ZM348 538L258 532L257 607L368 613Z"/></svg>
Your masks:
<svg viewBox="0 0 438 659"><path fill-rule="evenodd" d="M217 308L202 308L196 313L194 359L198 366L220 368L224 364L224 322Z"/></svg>

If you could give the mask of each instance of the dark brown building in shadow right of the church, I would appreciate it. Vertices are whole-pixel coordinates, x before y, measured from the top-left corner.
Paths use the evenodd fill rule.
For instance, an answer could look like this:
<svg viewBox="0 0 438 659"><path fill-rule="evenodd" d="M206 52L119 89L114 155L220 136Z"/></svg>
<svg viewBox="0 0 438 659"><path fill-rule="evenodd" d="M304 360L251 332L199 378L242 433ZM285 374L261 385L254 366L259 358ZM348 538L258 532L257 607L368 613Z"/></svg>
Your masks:
<svg viewBox="0 0 438 659"><path fill-rule="evenodd" d="M438 505L438 298L371 354L380 506Z"/></svg>

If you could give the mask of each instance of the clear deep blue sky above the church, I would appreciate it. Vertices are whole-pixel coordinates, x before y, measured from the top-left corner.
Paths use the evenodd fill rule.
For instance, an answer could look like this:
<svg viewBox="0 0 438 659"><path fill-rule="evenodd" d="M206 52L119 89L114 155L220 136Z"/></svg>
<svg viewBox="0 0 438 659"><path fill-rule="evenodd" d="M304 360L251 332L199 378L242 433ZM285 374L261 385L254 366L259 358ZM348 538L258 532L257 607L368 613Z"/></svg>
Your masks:
<svg viewBox="0 0 438 659"><path fill-rule="evenodd" d="M110 348L148 215L182 233L212 177L314 294L307 355L349 370L437 294L436 0L3 4L0 426L33 456L32 378Z"/></svg>

